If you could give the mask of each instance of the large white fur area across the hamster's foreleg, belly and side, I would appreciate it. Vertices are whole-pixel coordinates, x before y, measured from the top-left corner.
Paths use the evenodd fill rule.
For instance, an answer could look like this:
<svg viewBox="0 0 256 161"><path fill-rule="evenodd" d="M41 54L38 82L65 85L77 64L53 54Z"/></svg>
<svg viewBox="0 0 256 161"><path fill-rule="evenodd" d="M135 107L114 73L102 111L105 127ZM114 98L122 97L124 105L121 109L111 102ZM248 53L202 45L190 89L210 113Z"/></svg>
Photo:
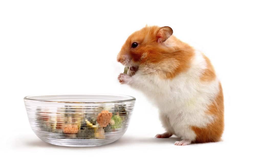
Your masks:
<svg viewBox="0 0 256 161"><path fill-rule="evenodd" d="M173 79L162 79L139 69L129 84L156 104L167 131L193 141L196 134L190 126L205 127L214 120L206 111L219 92L217 78L212 82L200 81L206 67L201 52L195 51L190 68Z"/></svg>

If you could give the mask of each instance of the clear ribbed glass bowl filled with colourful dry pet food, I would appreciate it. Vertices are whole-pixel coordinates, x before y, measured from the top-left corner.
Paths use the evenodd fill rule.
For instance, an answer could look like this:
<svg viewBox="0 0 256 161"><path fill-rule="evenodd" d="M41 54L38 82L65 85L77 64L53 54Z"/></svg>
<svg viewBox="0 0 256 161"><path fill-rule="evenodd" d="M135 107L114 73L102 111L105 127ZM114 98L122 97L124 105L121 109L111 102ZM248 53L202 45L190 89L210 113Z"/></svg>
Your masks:
<svg viewBox="0 0 256 161"><path fill-rule="evenodd" d="M53 95L24 98L32 130L62 146L99 146L125 133L135 98L123 95Z"/></svg>

